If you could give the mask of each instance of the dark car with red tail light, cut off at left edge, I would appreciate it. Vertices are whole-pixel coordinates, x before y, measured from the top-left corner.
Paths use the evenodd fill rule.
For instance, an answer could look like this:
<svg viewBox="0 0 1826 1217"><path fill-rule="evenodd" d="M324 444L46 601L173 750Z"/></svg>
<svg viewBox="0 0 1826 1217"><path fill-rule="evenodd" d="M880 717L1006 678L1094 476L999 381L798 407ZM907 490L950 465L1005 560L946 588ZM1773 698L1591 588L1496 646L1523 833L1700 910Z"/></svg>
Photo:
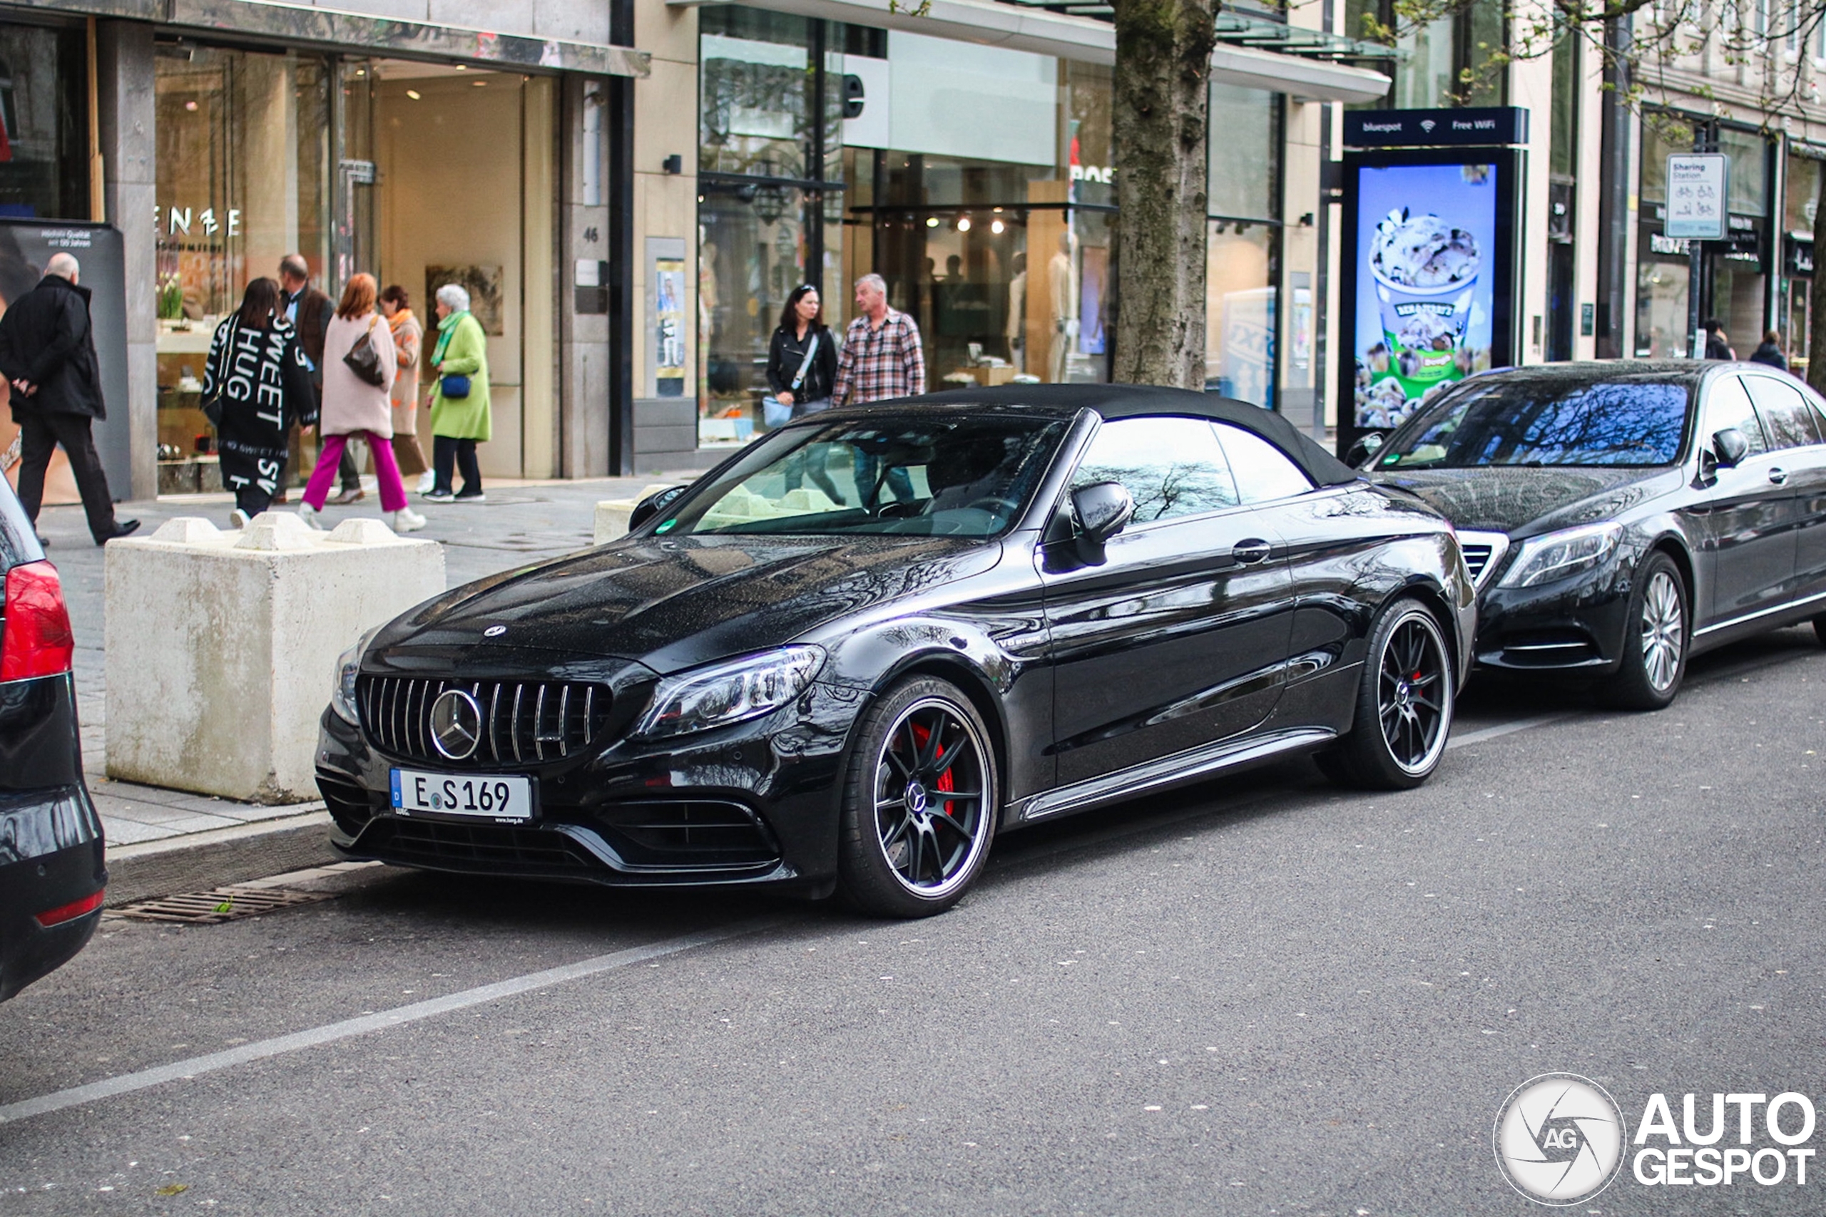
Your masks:
<svg viewBox="0 0 1826 1217"><path fill-rule="evenodd" d="M57 567L0 480L0 1002L95 932L108 869L82 781L75 650Z"/></svg>

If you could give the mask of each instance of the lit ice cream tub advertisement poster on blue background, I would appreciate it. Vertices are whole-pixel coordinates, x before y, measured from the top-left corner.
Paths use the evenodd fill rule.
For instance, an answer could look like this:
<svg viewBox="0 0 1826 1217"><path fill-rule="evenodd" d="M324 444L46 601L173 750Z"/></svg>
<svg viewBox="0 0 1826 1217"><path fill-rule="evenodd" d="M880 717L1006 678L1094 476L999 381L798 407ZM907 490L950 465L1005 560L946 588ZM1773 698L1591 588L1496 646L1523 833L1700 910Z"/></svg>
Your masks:
<svg viewBox="0 0 1826 1217"><path fill-rule="evenodd" d="M1364 164L1357 181L1357 425L1393 427L1490 367L1495 164Z"/></svg>

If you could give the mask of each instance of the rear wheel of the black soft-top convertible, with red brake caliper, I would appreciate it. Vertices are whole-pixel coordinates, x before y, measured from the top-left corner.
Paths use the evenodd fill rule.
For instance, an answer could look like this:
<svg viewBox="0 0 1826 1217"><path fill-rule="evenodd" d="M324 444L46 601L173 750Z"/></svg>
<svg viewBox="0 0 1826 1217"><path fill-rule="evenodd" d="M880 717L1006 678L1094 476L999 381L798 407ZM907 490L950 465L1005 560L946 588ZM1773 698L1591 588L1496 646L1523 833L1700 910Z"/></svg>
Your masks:
<svg viewBox="0 0 1826 1217"><path fill-rule="evenodd" d="M1320 770L1360 790L1419 786L1446 754L1453 697L1439 620L1411 597L1395 600L1370 629L1351 730L1318 755Z"/></svg>

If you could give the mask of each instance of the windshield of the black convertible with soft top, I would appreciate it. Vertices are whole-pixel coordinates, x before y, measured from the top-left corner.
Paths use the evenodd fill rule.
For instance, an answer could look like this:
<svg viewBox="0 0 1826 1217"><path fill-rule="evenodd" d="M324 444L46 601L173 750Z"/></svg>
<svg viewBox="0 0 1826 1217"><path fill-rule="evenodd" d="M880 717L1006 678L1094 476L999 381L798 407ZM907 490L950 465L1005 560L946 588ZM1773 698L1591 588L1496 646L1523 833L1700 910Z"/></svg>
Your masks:
<svg viewBox="0 0 1826 1217"><path fill-rule="evenodd" d="M1065 429L1008 416L787 427L654 531L995 536L1021 513Z"/></svg>

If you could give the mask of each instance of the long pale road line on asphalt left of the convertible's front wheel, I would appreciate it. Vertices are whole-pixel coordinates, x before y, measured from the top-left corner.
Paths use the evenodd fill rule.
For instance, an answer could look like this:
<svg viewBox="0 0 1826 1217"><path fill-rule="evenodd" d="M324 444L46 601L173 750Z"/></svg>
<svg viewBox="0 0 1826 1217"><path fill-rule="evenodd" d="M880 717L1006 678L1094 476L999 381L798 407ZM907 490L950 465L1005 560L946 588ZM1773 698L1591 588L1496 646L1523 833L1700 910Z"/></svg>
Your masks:
<svg viewBox="0 0 1826 1217"><path fill-rule="evenodd" d="M749 921L736 921L734 925L725 925L721 929L701 931L698 934L685 934L681 938L666 938L663 941L648 943L645 947L630 947L626 951L614 951L610 954L599 954L590 960L579 960L577 963L564 963L562 967L548 967L546 971L540 973L513 976L511 980L497 980L491 985L464 989L462 993L451 993L442 998L431 998L427 1002L413 1002L411 1005L382 1011L378 1014L362 1014L360 1018L345 1018L341 1022L312 1027L309 1031L294 1031L292 1035L279 1035L270 1040L241 1044L237 1047L225 1049L221 1053L192 1056L188 1060L177 1060L168 1066L153 1066L152 1069L141 1069L137 1073L122 1073L113 1078L102 1078L100 1082L89 1082L88 1086L71 1086L69 1089L53 1091L49 1095L38 1095L37 1098L24 1098L20 1102L0 1106L0 1124L11 1124L13 1120L24 1120L27 1117L46 1115L49 1111L62 1111L64 1108L75 1108L79 1104L95 1102L97 1098L113 1098L115 1095L130 1095L133 1091L142 1091L152 1086L188 1080L203 1073L214 1073L217 1069L232 1069L234 1066L245 1066L248 1062L265 1060L268 1056L283 1056L285 1053L296 1053L307 1047L318 1047L321 1044L334 1044L336 1040L347 1040L351 1036L367 1035L371 1031L385 1031L387 1027L398 1027L409 1022L418 1022L422 1018L433 1018L436 1014L449 1014L451 1011L467 1009L471 1005L482 1005L484 1002L498 1002L500 998L511 998L522 993L550 989L551 985L561 985L568 980L582 980L584 976L612 973L615 969L628 967L632 963L646 963L648 960L677 954L681 951L708 947L712 943L729 941L730 938L754 934L782 925L785 920L787 918L756 918Z"/></svg>

